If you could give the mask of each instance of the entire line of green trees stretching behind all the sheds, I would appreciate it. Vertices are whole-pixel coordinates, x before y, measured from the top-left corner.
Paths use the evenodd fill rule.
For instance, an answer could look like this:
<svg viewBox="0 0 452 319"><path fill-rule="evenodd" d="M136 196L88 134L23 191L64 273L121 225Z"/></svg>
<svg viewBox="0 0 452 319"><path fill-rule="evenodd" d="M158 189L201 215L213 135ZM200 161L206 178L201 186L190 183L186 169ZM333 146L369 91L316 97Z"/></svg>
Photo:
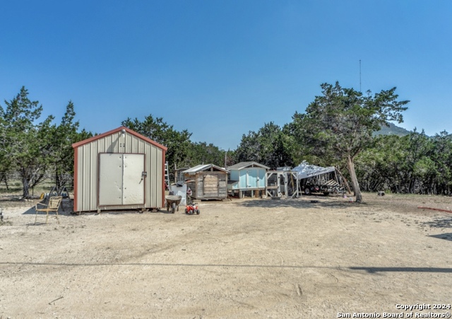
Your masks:
<svg viewBox="0 0 452 319"><path fill-rule="evenodd" d="M191 132L178 131L162 117L127 118L121 125L167 146L169 167L189 168L201 163L230 166L256 161L270 168L297 166L306 160L336 166L350 179L357 201L364 191L451 193L452 140L447 132L427 137L416 129L405 137L375 136L388 121L403 122L408 100L396 88L372 94L323 83L322 93L295 112L283 127L273 122L249 131L234 150L191 141ZM49 174L57 187L73 175L72 144L93 137L80 130L69 101L58 124L52 115L42 119L43 107L28 98L28 90L0 105L0 182L16 173L23 197Z"/></svg>

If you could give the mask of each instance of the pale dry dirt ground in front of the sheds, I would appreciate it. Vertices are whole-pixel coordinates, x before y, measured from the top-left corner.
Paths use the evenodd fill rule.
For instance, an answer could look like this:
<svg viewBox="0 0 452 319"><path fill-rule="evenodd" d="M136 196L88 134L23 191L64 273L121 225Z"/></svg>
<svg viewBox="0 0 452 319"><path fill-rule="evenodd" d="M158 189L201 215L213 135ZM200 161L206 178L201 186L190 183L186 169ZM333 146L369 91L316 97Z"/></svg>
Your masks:
<svg viewBox="0 0 452 319"><path fill-rule="evenodd" d="M65 202L60 224L35 225L33 202L4 199L0 318L450 314L452 214L417 207L452 197L364 200L232 199L192 216L76 216Z"/></svg>

